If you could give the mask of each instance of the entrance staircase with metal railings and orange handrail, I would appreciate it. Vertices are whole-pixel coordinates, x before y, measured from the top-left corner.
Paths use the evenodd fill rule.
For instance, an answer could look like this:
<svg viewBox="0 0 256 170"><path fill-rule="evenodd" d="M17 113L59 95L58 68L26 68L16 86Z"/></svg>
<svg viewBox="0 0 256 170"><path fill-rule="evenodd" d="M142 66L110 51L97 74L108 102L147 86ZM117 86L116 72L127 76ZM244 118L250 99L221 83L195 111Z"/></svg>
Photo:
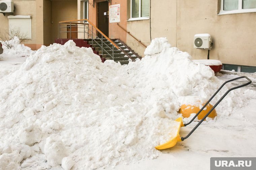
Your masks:
<svg viewBox="0 0 256 170"><path fill-rule="evenodd" d="M75 31L71 31L72 27L76 28ZM68 28L69 31L67 31ZM72 39L74 35L75 39ZM67 36L69 36L69 38ZM65 39L61 37L65 37ZM83 37L84 39L77 39L76 37ZM94 53L101 57L102 62L106 59L114 60L121 64L128 64L129 61L141 59L140 56L119 39L111 40L105 36L88 19L59 22L59 39L56 39L55 43L65 44L65 42L70 39L73 40L78 47L91 47Z"/></svg>

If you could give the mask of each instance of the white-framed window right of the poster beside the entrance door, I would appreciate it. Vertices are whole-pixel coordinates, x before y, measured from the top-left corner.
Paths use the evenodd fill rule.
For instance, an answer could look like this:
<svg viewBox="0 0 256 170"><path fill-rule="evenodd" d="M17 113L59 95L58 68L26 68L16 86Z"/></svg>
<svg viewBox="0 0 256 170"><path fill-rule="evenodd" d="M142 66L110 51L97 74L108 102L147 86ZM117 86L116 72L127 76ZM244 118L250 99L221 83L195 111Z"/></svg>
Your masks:
<svg viewBox="0 0 256 170"><path fill-rule="evenodd" d="M131 0L129 20L149 19L150 0Z"/></svg>

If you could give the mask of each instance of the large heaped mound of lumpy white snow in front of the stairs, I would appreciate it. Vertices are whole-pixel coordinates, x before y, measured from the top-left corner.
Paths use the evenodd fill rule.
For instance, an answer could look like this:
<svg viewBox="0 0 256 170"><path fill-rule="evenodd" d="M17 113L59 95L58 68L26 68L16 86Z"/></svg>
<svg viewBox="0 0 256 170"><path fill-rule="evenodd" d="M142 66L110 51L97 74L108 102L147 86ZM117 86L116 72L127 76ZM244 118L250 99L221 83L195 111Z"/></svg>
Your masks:
<svg viewBox="0 0 256 170"><path fill-rule="evenodd" d="M121 66L71 40L42 46L0 81L2 167L96 169L157 158L154 147L177 134L180 105L208 99L220 83L188 53L166 42L160 49ZM241 107L236 98L226 103Z"/></svg>

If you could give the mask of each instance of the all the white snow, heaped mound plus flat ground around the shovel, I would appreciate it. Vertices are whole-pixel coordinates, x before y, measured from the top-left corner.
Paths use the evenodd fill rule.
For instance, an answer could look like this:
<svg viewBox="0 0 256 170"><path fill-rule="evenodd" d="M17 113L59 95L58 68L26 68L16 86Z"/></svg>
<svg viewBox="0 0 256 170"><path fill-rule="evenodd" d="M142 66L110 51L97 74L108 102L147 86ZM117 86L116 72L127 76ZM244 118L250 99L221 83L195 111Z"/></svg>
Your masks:
<svg viewBox="0 0 256 170"><path fill-rule="evenodd" d="M163 151L182 104L207 101L234 75L216 74L166 39L141 61L101 63L73 42L0 55L0 168L210 169L211 157L255 157L256 79L230 92L217 118ZM249 77L250 78L250 77ZM228 88L227 84L213 103ZM182 127L185 136L197 124ZM62 167L61 167L62 166Z"/></svg>

